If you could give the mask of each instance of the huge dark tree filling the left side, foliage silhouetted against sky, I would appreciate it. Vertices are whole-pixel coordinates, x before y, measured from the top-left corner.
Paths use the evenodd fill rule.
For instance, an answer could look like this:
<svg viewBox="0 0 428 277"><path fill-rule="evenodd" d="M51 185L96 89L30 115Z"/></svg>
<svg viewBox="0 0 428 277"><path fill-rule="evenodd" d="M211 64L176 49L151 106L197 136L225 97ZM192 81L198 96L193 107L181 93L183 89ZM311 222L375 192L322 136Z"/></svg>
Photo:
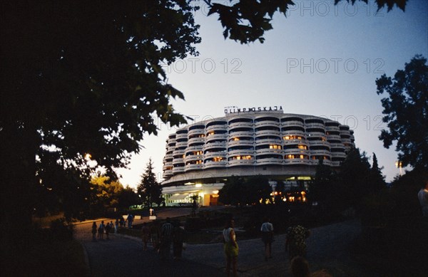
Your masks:
<svg viewBox="0 0 428 277"><path fill-rule="evenodd" d="M36 196L83 218L97 166L116 179L158 121L185 122L170 105L183 94L161 66L197 55L200 38L188 1L0 5L6 244L29 234Z"/></svg>

